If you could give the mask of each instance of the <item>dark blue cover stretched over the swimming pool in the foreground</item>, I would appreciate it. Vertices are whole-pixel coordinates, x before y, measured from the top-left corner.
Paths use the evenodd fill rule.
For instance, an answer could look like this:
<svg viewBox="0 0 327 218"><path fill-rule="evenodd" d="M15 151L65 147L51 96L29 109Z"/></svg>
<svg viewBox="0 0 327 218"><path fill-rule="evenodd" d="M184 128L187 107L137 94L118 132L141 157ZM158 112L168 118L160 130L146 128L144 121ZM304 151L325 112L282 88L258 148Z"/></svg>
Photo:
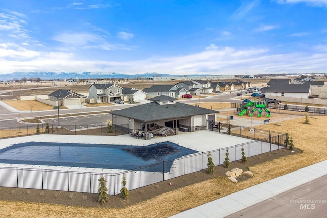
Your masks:
<svg viewBox="0 0 327 218"><path fill-rule="evenodd" d="M194 153L169 141L149 146L26 142L1 149L0 163L169 172L174 159Z"/></svg>

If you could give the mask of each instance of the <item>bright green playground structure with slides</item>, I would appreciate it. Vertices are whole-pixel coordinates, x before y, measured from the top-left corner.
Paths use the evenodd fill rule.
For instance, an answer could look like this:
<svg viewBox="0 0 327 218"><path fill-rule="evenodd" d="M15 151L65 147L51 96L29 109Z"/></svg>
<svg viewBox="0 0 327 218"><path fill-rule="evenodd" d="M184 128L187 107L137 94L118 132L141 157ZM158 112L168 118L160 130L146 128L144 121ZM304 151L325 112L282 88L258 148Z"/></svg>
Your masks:
<svg viewBox="0 0 327 218"><path fill-rule="evenodd" d="M267 117L270 117L270 111L266 108L266 101L250 101L243 102L242 105L238 108L239 116L243 116L245 113L253 116L254 113L258 113L258 117L261 117L263 114L266 114Z"/></svg>

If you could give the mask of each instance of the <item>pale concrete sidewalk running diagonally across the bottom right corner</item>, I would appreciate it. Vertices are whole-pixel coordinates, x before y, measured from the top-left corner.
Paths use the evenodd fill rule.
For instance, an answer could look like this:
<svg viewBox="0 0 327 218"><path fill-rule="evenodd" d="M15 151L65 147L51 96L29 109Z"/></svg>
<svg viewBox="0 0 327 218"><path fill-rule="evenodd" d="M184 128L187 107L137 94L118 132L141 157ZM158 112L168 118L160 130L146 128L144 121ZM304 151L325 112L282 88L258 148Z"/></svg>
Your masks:
<svg viewBox="0 0 327 218"><path fill-rule="evenodd" d="M171 217L225 217L327 174L327 160L254 185Z"/></svg>

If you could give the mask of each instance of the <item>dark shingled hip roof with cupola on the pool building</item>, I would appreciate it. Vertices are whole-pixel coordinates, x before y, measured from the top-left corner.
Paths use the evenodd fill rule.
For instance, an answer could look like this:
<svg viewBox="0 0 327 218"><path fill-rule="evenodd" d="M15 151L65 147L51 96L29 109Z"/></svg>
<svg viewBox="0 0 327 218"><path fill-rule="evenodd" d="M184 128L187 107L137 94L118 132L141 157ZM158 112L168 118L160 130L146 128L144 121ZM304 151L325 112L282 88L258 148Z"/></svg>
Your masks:
<svg viewBox="0 0 327 218"><path fill-rule="evenodd" d="M158 97L164 98L164 96ZM158 97L152 99L156 99ZM125 108L122 110L112 111L110 113L113 115L119 115L139 120L141 122L155 122L158 120L177 119L183 117L186 118L194 115L213 114L219 112L180 102L165 105L160 105L157 102L151 102L147 104Z"/></svg>

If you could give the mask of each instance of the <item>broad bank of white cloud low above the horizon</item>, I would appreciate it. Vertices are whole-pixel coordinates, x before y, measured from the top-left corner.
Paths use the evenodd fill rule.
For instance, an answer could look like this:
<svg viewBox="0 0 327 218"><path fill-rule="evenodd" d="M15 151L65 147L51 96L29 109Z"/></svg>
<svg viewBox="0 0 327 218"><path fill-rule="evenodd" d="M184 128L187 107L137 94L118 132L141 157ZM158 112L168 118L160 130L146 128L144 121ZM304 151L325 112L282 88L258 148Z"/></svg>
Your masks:
<svg viewBox="0 0 327 218"><path fill-rule="evenodd" d="M313 51L313 52L312 52ZM312 47L312 53L292 52L274 54L265 47L237 49L211 44L198 53L153 57L136 61L105 61L78 59L72 52L38 52L16 44L0 44L2 73L53 71L53 72L121 72L136 74L244 74L325 71L327 53L325 45ZM110 59L110 58L106 58Z"/></svg>

